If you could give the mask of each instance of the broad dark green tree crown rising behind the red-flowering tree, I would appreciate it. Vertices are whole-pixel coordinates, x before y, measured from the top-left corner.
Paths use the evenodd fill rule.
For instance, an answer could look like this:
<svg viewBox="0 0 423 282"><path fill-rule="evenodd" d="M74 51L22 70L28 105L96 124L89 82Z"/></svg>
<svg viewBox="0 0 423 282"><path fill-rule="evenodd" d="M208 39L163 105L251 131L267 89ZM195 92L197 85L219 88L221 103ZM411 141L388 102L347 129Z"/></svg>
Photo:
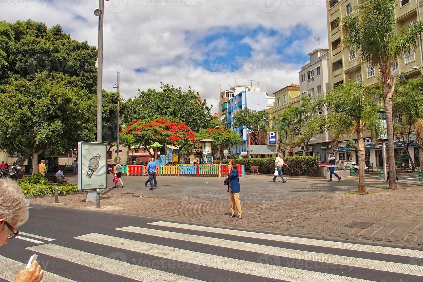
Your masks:
<svg viewBox="0 0 423 282"><path fill-rule="evenodd" d="M138 96L126 101L126 110L122 121L128 123L132 120L150 118L154 115L173 117L185 123L192 130L198 132L209 127L211 108L194 89L175 88L163 84L160 90L148 89L139 91Z"/></svg>

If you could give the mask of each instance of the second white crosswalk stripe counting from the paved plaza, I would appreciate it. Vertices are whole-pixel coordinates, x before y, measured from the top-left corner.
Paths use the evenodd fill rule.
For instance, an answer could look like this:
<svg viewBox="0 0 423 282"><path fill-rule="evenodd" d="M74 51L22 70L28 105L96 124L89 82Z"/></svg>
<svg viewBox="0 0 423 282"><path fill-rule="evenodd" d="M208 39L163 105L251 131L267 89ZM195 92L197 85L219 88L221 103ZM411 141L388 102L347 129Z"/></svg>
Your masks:
<svg viewBox="0 0 423 282"><path fill-rule="evenodd" d="M123 227L117 230L128 231L143 235L159 236L163 238L170 238L176 240L190 241L193 243L207 244L212 246L220 246L231 249L238 249L247 252L257 252L266 255L290 257L299 260L314 260L323 263L334 263L345 266L363 267L368 269L375 269L381 271L390 271L403 274L423 276L423 266L414 266L405 263L392 263L380 260L369 260L357 257L346 257L341 255L322 254L317 252L298 251L294 249L284 249L274 246L265 246L258 244L250 244L239 241L229 241L218 238L211 238L198 235L182 234L176 232L151 230L141 227Z"/></svg>

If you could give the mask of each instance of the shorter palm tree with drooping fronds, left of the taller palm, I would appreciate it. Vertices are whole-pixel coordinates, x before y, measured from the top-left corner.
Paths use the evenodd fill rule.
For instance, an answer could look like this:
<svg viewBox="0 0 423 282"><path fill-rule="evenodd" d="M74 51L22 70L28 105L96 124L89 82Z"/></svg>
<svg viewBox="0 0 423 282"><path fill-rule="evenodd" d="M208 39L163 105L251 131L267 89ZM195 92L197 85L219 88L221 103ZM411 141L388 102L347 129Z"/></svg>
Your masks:
<svg viewBox="0 0 423 282"><path fill-rule="evenodd" d="M384 129L380 123L378 107L368 88L355 82L335 87L326 96L319 96L314 101L314 108L326 107L328 114L319 116L320 131L329 131L335 142L342 135L357 134L358 151L358 190L357 194L366 194L364 167L365 145L364 130L370 131L373 140L378 140Z"/></svg>

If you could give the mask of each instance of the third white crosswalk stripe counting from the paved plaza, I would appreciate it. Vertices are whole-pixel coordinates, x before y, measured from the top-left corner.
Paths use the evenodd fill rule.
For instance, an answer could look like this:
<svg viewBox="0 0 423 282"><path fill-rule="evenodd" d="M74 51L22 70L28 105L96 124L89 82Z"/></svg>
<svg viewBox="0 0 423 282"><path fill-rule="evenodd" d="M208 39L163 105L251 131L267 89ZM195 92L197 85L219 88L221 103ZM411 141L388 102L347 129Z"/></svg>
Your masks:
<svg viewBox="0 0 423 282"><path fill-rule="evenodd" d="M91 233L75 237L82 241L102 244L114 248L125 249L128 251L140 252L147 255L166 257L171 260L180 260L192 264L200 264L202 266L220 268L228 271L235 271L243 274L257 275L270 279L284 279L288 281L366 281L351 277L343 277L335 274L326 274L302 270L297 268L289 268L284 266L274 266L264 263L255 263L246 260L238 260L218 255L210 255L200 252L194 252L184 249L173 248L169 246L161 246L151 243L129 240L126 238L118 238Z"/></svg>

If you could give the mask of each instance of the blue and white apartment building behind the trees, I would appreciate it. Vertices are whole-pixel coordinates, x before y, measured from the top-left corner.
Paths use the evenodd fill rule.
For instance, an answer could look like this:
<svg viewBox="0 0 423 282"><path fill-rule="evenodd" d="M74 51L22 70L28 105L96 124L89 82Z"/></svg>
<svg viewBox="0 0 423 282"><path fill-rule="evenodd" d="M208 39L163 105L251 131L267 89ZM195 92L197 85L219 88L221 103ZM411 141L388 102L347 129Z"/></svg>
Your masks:
<svg viewBox="0 0 423 282"><path fill-rule="evenodd" d="M233 123L235 119L233 116L236 112L242 109L249 108L250 110L266 110L267 99L266 92L263 91L241 91L236 94L233 98L229 99L228 102L228 129L236 131L236 133L243 139L238 146L232 146L230 148L231 154L241 154L247 156L248 152L248 132L244 126L234 127Z"/></svg>

